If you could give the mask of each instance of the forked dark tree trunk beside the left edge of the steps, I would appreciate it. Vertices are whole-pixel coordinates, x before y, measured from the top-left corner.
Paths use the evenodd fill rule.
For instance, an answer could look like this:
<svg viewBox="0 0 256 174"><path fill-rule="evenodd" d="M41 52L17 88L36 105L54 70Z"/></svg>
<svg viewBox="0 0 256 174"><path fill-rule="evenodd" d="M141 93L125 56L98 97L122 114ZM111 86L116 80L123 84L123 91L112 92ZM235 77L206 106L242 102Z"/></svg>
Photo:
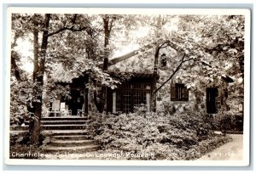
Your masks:
<svg viewBox="0 0 256 174"><path fill-rule="evenodd" d="M45 69L45 56L48 45L48 27L49 27L50 14L44 16L44 32L42 37L42 45L40 53L38 51L38 23L34 20L35 27L33 31L34 35L34 70L33 81L35 85L35 91L37 93L33 96L32 107L34 109L34 119L32 121L31 133L32 144L38 145L39 135L41 132L40 121L42 117L42 100L43 100L43 86L44 86L44 69Z"/></svg>

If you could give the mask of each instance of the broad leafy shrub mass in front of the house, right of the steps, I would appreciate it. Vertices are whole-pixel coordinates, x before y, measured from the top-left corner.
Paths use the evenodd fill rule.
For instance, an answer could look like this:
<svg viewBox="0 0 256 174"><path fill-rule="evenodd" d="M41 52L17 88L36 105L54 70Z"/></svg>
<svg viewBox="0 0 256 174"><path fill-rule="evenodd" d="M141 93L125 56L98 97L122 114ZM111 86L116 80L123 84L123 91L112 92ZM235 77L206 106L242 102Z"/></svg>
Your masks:
<svg viewBox="0 0 256 174"><path fill-rule="evenodd" d="M139 109L140 110L140 109ZM213 137L211 124L199 114L164 115L139 112L97 114L86 129L105 152L153 153L129 156L127 160L189 160L201 155L201 142Z"/></svg>

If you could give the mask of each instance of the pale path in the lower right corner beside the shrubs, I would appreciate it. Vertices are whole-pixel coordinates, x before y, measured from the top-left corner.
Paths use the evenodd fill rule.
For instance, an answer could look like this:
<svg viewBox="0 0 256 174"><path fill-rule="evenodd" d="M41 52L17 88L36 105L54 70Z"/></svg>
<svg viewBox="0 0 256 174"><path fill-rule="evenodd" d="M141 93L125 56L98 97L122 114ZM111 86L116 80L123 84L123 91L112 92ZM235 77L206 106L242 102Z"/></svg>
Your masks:
<svg viewBox="0 0 256 174"><path fill-rule="evenodd" d="M242 160L242 134L230 134L233 141L201 156L198 160Z"/></svg>

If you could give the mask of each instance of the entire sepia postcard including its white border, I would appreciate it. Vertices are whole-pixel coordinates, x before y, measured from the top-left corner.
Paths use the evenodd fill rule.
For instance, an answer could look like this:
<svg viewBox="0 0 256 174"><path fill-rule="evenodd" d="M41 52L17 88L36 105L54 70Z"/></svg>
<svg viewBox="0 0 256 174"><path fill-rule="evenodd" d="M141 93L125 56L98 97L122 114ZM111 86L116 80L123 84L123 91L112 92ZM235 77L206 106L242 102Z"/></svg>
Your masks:
<svg viewBox="0 0 256 174"><path fill-rule="evenodd" d="M249 164L249 10L8 12L6 163Z"/></svg>

